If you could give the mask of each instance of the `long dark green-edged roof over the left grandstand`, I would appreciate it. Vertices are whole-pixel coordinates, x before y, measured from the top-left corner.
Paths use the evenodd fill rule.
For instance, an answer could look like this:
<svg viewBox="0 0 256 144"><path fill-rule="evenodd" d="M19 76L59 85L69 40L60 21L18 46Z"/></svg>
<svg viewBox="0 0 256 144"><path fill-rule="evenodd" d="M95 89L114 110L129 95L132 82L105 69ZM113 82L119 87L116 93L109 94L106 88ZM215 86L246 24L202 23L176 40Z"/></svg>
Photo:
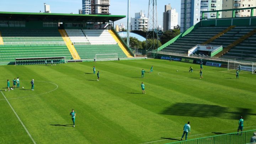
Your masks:
<svg viewBox="0 0 256 144"><path fill-rule="evenodd" d="M123 15L84 15L84 14L54 14L35 12L0 12L1 20L34 20L34 21L117 21L126 16Z"/></svg>

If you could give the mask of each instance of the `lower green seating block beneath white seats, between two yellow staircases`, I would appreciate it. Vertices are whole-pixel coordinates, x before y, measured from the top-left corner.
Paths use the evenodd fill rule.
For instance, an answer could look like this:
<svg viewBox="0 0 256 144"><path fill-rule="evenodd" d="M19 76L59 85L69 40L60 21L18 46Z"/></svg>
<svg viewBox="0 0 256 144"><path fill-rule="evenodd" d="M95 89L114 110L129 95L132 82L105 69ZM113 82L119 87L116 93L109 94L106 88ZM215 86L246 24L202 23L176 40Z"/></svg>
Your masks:
<svg viewBox="0 0 256 144"><path fill-rule="evenodd" d="M81 59L93 59L96 54L117 53L119 58L127 57L117 44L75 46Z"/></svg>

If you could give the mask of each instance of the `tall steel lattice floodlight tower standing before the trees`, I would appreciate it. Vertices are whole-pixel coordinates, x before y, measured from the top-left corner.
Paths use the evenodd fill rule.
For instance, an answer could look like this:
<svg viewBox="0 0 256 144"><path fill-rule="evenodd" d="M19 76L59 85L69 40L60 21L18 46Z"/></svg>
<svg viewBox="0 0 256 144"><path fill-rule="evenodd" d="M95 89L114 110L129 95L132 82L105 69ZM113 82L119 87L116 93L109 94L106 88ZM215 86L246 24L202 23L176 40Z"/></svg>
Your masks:
<svg viewBox="0 0 256 144"><path fill-rule="evenodd" d="M156 0L149 0L148 8L148 31L146 34L146 50L158 48L158 30L157 30L157 5ZM149 39L152 39L150 41ZM156 39L156 42L155 42ZM156 46L155 46L156 43Z"/></svg>

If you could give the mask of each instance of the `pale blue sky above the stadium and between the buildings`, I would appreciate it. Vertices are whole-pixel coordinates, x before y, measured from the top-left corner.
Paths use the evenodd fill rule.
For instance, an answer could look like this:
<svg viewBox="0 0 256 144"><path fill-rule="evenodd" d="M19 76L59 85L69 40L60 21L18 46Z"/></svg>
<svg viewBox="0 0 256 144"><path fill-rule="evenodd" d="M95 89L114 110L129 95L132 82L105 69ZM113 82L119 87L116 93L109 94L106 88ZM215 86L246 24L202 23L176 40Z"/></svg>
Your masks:
<svg viewBox="0 0 256 144"><path fill-rule="evenodd" d="M50 5L52 13L78 14L82 9L82 0L0 0L0 11L6 12L44 12L44 3ZM149 0L130 0L130 17L134 17L135 12L145 11L148 16ZM158 0L158 25L162 26L162 15L164 5L171 4L172 9L178 12L178 24L180 25L181 0ZM127 16L127 0L110 0L110 13L112 15ZM127 27L127 18L114 22L114 24L124 23Z"/></svg>

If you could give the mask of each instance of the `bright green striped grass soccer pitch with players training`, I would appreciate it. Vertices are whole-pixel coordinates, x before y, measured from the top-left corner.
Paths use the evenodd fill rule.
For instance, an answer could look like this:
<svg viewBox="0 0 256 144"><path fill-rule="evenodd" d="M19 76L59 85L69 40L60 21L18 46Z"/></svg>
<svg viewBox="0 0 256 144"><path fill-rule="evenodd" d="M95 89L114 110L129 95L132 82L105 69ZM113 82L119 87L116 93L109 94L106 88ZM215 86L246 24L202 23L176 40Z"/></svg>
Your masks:
<svg viewBox="0 0 256 144"><path fill-rule="evenodd" d="M256 129L256 75L204 66L199 79L199 67L160 59L0 66L0 143L164 144L179 140L187 121L192 139L236 132L240 116L244 130ZM17 77L24 89L5 91Z"/></svg>

